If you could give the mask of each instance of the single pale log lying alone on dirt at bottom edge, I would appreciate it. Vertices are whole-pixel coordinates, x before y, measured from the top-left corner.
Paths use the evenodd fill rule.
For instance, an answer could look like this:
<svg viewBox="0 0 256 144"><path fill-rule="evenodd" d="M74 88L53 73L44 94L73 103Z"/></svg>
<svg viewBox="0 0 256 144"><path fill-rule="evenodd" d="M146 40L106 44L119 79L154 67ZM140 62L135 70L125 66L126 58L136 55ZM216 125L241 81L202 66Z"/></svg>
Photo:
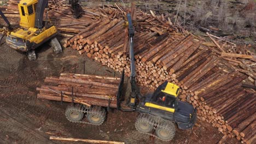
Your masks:
<svg viewBox="0 0 256 144"><path fill-rule="evenodd" d="M50 140L57 141L82 141L87 143L101 143L101 144L124 144L125 142L117 142L117 141L101 141L101 140L89 140L89 139L77 139L73 137L56 137L50 136Z"/></svg>

